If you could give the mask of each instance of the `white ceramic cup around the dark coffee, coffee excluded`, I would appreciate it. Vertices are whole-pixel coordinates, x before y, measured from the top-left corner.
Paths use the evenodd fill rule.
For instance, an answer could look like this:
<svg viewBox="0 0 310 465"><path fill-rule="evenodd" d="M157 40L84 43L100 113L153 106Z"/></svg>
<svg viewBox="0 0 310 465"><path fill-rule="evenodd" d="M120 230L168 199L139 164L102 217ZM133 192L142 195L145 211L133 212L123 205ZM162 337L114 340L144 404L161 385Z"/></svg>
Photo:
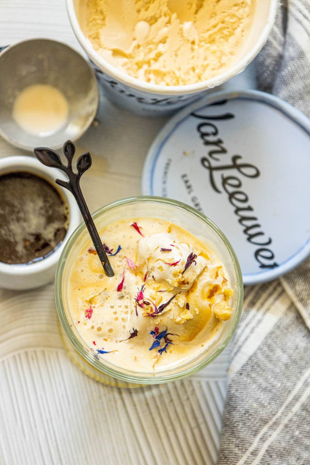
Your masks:
<svg viewBox="0 0 310 465"><path fill-rule="evenodd" d="M32 289L50 283L55 278L55 272L61 252L73 231L79 226L81 217L73 195L66 189L55 184L55 179L64 179L66 176L59 170L48 168L37 159L21 155L0 159L0 175L17 171L28 171L38 174L45 179L52 181L52 184L63 193L69 206L69 227L66 236L60 246L51 255L39 262L29 265L9 265L0 262L0 288L13 289L17 291Z"/></svg>

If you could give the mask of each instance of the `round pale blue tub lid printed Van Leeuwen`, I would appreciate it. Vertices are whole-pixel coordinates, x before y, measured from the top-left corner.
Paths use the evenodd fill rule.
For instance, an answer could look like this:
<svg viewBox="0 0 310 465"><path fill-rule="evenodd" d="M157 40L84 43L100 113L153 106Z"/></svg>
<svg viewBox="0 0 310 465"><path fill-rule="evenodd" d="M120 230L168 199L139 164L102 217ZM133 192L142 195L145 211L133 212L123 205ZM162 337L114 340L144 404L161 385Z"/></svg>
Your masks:
<svg viewBox="0 0 310 465"><path fill-rule="evenodd" d="M310 120L264 92L212 93L158 134L142 193L178 199L214 221L244 284L275 279L310 253Z"/></svg>

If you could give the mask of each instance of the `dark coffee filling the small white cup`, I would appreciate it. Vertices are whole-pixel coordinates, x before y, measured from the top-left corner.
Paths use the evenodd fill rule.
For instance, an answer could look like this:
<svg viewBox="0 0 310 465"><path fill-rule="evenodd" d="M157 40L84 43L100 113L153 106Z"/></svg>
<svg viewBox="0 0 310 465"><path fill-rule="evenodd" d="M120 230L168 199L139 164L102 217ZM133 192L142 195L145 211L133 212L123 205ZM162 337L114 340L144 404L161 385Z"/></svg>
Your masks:
<svg viewBox="0 0 310 465"><path fill-rule="evenodd" d="M0 175L0 262L31 264L51 255L69 226L69 206L56 186L37 174Z"/></svg>

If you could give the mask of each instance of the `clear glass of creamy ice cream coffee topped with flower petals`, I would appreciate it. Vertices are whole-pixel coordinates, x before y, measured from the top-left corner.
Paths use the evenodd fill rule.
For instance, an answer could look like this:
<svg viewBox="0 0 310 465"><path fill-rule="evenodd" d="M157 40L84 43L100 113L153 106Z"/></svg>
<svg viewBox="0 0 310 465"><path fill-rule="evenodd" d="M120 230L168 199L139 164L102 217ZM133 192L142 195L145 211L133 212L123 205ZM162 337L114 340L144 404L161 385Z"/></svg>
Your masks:
<svg viewBox="0 0 310 465"><path fill-rule="evenodd" d="M119 200L92 216L115 275L104 274L82 223L55 286L74 349L95 372L131 385L181 379L211 363L243 303L240 266L224 234L203 213L161 197Z"/></svg>

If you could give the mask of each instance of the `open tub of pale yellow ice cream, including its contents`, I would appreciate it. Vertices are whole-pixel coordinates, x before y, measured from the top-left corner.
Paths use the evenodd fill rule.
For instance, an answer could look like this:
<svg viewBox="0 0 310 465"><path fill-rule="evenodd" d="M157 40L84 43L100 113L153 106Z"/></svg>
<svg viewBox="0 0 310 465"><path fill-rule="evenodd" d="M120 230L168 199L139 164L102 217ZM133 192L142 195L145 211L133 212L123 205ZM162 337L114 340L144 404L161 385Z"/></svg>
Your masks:
<svg viewBox="0 0 310 465"><path fill-rule="evenodd" d="M149 3L150 6L145 8L147 13L143 16L142 13L137 13L138 7L134 0L123 0L117 8L108 0L99 2L99 7L98 3L96 6L89 0L66 0L73 31L92 60L106 95L116 104L133 113L160 116L174 113L178 108L197 100L208 90L243 71L264 46L274 23L278 2L277 0L244 1L243 5L251 7L251 22L246 16L250 13L244 13L247 22L240 22L238 27L236 26L235 35L230 31L231 26L228 28L227 25L236 18L240 20L239 16L242 13L233 1L231 8L237 8L233 10L235 16L219 17L218 23L214 25L212 23L211 30L207 33L204 16L199 17L198 13L195 13L194 19L193 12L185 12L182 2L150 0ZM166 8L168 4L170 16ZM87 8L95 8L95 11L91 11L90 14ZM158 8L164 8L163 17L158 15L156 10ZM214 9L215 6L208 8ZM224 11L223 8L222 15ZM206 9L208 20L214 16L213 13ZM116 24L119 30L117 27L113 29ZM222 27L221 24L226 26ZM238 41L235 36L240 31L244 33L245 26L247 26L246 36L244 35L244 40ZM93 31L89 32L91 27ZM127 35L126 31L129 31ZM154 40L144 40L145 35L151 36L152 31ZM209 38L211 33L218 33L216 45L214 40L211 41ZM227 37L225 34L231 35ZM161 36L163 36L162 42ZM101 45L98 43L106 48L100 48ZM179 44L178 49L171 51L169 44L173 47L175 43ZM226 51L228 46L232 48ZM237 47L234 59L217 70L219 63L224 62L225 57L234 53L233 46ZM127 53L128 50L131 52ZM131 58L128 58L129 56ZM205 63L209 62L210 70L205 69ZM168 69L170 64L171 69Z"/></svg>

